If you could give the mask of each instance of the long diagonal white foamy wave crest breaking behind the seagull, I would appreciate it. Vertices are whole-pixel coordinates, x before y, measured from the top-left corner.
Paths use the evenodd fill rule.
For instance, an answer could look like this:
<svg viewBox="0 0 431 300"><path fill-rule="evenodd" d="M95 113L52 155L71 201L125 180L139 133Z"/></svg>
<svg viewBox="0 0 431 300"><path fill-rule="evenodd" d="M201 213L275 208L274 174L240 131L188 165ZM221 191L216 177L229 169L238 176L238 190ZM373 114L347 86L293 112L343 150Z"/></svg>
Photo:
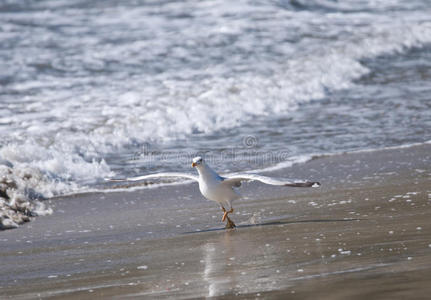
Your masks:
<svg viewBox="0 0 431 300"><path fill-rule="evenodd" d="M354 85L356 79L369 72L361 59L430 42L430 22L400 21L367 28L352 36L349 43L329 43L286 59L284 64L269 63L269 76L244 72L190 82L156 76L163 84L158 87L160 94L154 97L148 96L142 83L132 81L133 92L103 107L109 124L103 132L110 137L110 143L124 146L130 142L185 138L196 132L211 133L245 124L257 116L283 115L304 102L323 98L328 91ZM103 138L100 142L107 146Z"/></svg>

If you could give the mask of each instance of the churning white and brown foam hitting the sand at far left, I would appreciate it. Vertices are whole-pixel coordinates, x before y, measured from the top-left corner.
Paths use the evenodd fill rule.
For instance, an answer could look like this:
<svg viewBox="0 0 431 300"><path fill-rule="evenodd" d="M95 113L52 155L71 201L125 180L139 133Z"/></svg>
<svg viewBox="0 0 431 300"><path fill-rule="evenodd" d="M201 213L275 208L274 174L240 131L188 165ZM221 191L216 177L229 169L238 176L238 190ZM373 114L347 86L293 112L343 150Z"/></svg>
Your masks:
<svg viewBox="0 0 431 300"><path fill-rule="evenodd" d="M82 191L85 180L111 174L103 160L86 162L28 143L4 146L0 158L0 230L51 214L47 197Z"/></svg>

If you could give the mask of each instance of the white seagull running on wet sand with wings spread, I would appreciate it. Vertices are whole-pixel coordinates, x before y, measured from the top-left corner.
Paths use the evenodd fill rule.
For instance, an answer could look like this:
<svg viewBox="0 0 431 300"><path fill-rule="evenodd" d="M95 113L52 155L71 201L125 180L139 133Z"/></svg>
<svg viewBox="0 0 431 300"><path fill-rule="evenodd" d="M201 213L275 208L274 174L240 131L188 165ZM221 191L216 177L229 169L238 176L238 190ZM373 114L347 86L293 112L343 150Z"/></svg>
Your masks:
<svg viewBox="0 0 431 300"><path fill-rule="evenodd" d="M202 195L208 199L220 204L223 210L222 222L226 221L226 229L236 227L235 223L229 218L229 214L233 213L232 202L241 198L241 194L235 189L241 186L243 181L260 181L269 185L290 186L290 187L319 187L320 183L316 181L289 181L285 179L276 179L257 174L234 174L222 177L218 175L204 160L198 156L193 158L192 167L196 168L198 175L179 173L179 172L164 172L155 173L126 179L110 179L108 181L141 181L151 178L160 177L182 177L192 179L199 183L199 190Z"/></svg>

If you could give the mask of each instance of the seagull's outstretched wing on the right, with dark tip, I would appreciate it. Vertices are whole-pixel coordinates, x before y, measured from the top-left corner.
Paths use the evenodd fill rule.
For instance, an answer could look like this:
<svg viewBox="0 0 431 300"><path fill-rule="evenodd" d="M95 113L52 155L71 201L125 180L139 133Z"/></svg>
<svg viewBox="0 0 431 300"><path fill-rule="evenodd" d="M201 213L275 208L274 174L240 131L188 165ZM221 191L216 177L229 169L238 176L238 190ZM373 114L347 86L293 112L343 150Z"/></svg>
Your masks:
<svg viewBox="0 0 431 300"><path fill-rule="evenodd" d="M223 184L229 186L240 186L241 181L257 180L270 185L293 186L293 187L319 187L320 183L317 181L305 180L286 180L277 179L256 174L235 174L224 178Z"/></svg>

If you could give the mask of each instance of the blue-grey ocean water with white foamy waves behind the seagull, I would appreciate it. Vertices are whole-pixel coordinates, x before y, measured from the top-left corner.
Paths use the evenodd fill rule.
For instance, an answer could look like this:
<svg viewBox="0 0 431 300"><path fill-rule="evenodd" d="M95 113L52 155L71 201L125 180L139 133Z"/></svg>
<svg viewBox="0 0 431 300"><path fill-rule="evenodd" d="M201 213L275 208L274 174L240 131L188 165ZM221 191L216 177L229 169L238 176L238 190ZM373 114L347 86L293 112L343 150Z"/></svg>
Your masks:
<svg viewBox="0 0 431 300"><path fill-rule="evenodd" d="M0 135L43 197L423 143L431 2L0 0Z"/></svg>

